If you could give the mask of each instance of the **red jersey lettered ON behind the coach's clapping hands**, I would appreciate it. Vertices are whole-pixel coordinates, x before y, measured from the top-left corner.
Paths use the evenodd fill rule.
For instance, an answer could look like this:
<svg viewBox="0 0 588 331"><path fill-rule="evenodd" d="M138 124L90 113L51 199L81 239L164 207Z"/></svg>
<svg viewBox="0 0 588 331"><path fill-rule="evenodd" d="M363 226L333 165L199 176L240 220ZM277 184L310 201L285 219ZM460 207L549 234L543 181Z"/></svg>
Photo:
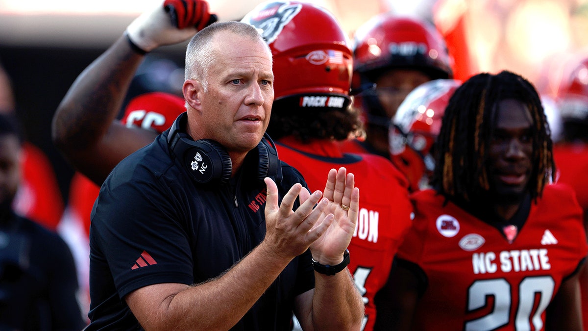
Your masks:
<svg viewBox="0 0 588 331"><path fill-rule="evenodd" d="M389 160L373 154L342 154L336 142L301 144L286 137L277 145L280 160L300 171L310 191L324 190L332 168L345 167L359 187L358 224L349 244L349 271L363 296L362 330L372 330L373 297L388 279L393 257L410 226L412 207L405 177Z"/></svg>

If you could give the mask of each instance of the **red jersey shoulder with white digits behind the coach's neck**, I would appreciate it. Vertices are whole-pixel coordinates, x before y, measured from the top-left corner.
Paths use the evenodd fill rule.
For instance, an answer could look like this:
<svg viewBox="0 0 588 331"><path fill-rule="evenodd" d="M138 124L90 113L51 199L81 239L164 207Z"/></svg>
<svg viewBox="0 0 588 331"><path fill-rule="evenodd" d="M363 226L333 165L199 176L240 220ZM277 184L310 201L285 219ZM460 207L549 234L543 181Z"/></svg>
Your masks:
<svg viewBox="0 0 588 331"><path fill-rule="evenodd" d="M148 92L132 98L126 105L121 123L162 133L186 111L185 100L166 92Z"/></svg>

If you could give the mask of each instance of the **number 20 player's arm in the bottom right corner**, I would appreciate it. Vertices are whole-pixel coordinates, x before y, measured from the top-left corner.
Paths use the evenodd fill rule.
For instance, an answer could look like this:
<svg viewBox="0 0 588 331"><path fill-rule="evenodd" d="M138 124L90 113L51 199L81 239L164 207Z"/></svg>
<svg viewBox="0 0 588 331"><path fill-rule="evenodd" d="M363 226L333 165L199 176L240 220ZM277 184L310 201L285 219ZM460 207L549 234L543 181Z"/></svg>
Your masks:
<svg viewBox="0 0 588 331"><path fill-rule="evenodd" d="M547 307L546 326L549 330L582 331L582 290L580 289L580 264L576 272L563 280L552 303ZM584 308L585 309L585 308Z"/></svg>

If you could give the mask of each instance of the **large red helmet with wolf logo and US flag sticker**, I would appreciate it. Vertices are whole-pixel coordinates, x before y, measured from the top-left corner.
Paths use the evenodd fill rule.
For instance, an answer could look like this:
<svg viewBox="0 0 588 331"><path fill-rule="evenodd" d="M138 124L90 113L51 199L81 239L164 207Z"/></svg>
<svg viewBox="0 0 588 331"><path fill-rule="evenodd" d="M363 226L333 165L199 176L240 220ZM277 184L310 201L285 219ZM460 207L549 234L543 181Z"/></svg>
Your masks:
<svg viewBox="0 0 588 331"><path fill-rule="evenodd" d="M347 107L353 57L333 14L309 2L268 1L241 21L261 29L272 49L276 101Z"/></svg>

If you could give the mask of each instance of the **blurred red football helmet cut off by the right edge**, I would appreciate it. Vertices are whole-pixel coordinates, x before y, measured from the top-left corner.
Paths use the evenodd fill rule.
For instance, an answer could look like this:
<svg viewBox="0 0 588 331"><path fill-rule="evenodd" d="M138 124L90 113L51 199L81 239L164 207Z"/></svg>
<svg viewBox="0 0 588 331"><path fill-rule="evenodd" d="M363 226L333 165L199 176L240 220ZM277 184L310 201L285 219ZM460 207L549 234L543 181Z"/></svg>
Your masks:
<svg viewBox="0 0 588 331"><path fill-rule="evenodd" d="M562 115L563 135L568 139L588 135L588 57L572 64L564 74L556 97Z"/></svg>

